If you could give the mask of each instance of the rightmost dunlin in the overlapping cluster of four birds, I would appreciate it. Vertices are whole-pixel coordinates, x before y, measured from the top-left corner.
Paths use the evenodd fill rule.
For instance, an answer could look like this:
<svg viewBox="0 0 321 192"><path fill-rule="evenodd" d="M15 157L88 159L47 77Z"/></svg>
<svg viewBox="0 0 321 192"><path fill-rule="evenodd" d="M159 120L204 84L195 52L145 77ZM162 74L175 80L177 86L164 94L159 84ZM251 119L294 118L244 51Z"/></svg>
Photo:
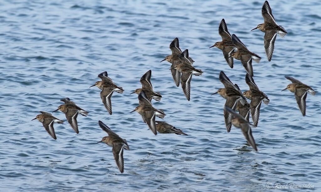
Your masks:
<svg viewBox="0 0 321 192"><path fill-rule="evenodd" d="M245 76L245 82L247 83L250 90L243 92L243 95L251 100L251 116L253 124L257 127L259 116L260 116L260 108L262 101L265 105L268 105L270 100L265 95L264 92L260 91L260 89L256 86L253 77L251 77L248 73Z"/></svg>

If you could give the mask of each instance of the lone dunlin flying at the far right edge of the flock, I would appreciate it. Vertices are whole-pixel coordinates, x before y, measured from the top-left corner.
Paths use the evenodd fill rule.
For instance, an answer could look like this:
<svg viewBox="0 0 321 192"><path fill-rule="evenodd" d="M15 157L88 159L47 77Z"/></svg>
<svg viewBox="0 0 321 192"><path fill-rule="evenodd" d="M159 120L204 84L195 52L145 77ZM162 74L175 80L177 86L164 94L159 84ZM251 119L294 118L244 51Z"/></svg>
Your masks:
<svg viewBox="0 0 321 192"><path fill-rule="evenodd" d="M310 86L303 84L301 81L293 77L285 76L285 78L289 79L292 83L289 84L282 91L289 90L294 93L295 99L297 100L301 113L303 116L305 116L305 110L306 110L305 100L307 99L307 94L309 92L311 95L315 95L316 92Z"/></svg>

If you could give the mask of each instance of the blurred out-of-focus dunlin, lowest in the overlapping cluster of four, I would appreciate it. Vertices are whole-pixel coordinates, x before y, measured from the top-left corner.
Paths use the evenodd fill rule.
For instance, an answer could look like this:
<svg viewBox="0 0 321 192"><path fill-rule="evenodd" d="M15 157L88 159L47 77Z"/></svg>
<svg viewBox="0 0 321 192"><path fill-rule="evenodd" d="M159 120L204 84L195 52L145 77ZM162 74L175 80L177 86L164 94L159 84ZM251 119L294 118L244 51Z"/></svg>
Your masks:
<svg viewBox="0 0 321 192"><path fill-rule="evenodd" d="M253 138L252 135L252 130L251 130L251 125L246 119L244 119L243 116L237 114L234 110L232 110L231 108L225 106L225 110L231 114L232 118L231 118L231 123L237 127L237 128L241 128L242 133L245 137L245 139L247 140L247 142L254 148L254 150L257 151L256 148L256 143L255 140Z"/></svg>

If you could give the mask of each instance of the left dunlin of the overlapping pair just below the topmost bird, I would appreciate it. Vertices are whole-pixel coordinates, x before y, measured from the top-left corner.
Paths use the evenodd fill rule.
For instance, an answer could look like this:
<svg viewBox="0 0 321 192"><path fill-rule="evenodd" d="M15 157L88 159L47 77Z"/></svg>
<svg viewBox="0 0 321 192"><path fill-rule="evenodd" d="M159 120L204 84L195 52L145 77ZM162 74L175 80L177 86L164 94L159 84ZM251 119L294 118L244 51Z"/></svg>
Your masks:
<svg viewBox="0 0 321 192"><path fill-rule="evenodd" d="M230 68L233 68L232 53L234 52L234 49L236 47L232 43L231 34L227 29L227 25L224 19L221 20L221 23L219 25L219 34L222 37L222 41L216 42L210 48L217 47L221 49L227 64L230 66Z"/></svg>

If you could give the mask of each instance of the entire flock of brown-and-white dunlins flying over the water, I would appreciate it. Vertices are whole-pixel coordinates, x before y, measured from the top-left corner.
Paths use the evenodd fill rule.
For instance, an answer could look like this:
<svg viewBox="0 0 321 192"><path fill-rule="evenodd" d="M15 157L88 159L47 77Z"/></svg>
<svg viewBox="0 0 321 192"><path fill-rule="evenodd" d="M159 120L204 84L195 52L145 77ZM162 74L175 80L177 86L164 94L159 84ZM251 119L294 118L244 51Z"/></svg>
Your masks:
<svg viewBox="0 0 321 192"><path fill-rule="evenodd" d="M271 61L274 50L274 42L277 34L281 37L284 37L287 34L287 32L282 26L276 24L272 15L272 10L267 1L265 1L262 6L262 16L264 18L264 23L257 25L257 27L254 29L260 29L261 31L265 32L265 53L267 59ZM213 94L217 93L221 95L224 99L226 99L223 114L227 132L230 132L232 124L235 127L240 128L248 143L254 148L254 150L257 151L251 127L256 127L258 125L262 101L265 105L268 105L270 102L267 95L264 92L260 91L253 79L252 60L260 62L261 57L253 52L250 52L236 35L230 35L224 19L221 20L221 23L219 25L219 34L222 37L222 41L215 43L212 47L217 47L222 50L224 58L227 64L230 66L230 68L233 68L233 58L241 61L242 65L244 66L247 72L245 76L245 81L249 86L249 90L242 93L239 89L239 86L237 84L233 84L228 78L228 76L226 76L225 73L221 71L219 74L219 79L221 83L224 85L224 88L219 89L217 92ZM183 52L181 51L181 49L179 48L178 38L175 38L171 42L169 48L172 51L172 54L166 56L165 59L162 61L166 60L169 63L171 63L170 70L174 83L177 87L179 86L179 84L181 84L186 99L190 100L190 82L192 76L201 76L203 71L193 67L194 60L189 57L187 49ZM156 109L152 105L152 99L160 101L162 96L160 95L160 92L153 91L151 76L152 71L147 71L140 79L142 88L136 89L134 92L130 93L138 94L139 100L139 105L132 112L138 112L142 116L143 122L148 125L150 130L155 135L157 135L157 132L187 135L180 129L177 129L164 121L155 121L156 116L164 118L166 114L162 109ZM123 93L124 90L122 87L117 86L108 77L106 71L99 74L98 77L101 79L101 81L97 81L91 87L97 86L101 90L100 98L106 110L111 115L111 96L113 92L116 91L118 93ZM293 77L285 76L285 78L289 79L292 82L292 84L289 84L284 90L289 90L295 93L295 98L302 112L302 115L305 116L307 93L309 92L312 95L315 95L316 92L308 85L303 84L302 82L300 82L297 79L294 79ZM247 99L251 100L251 102L248 103ZM78 107L69 98L61 99L61 101L63 101L65 104L60 105L55 111L59 110L65 113L68 123L78 134L78 113L80 113L82 116L87 116L88 112ZM239 111L239 113L236 113L236 111ZM62 124L64 123L64 121L57 119L48 112L40 111L40 113L41 114L37 115L37 117L34 119L39 120L43 124L49 135L56 140L57 138L53 124ZM249 121L250 114L252 116L253 124L250 124ZM108 146L112 147L117 167L120 170L120 172L123 173L123 151L124 148L126 150L129 150L127 141L119 137L115 132L113 132L107 125L105 125L101 121L99 121L99 125L103 131L108 133L108 136L103 137L102 140L99 142L104 142Z"/></svg>

